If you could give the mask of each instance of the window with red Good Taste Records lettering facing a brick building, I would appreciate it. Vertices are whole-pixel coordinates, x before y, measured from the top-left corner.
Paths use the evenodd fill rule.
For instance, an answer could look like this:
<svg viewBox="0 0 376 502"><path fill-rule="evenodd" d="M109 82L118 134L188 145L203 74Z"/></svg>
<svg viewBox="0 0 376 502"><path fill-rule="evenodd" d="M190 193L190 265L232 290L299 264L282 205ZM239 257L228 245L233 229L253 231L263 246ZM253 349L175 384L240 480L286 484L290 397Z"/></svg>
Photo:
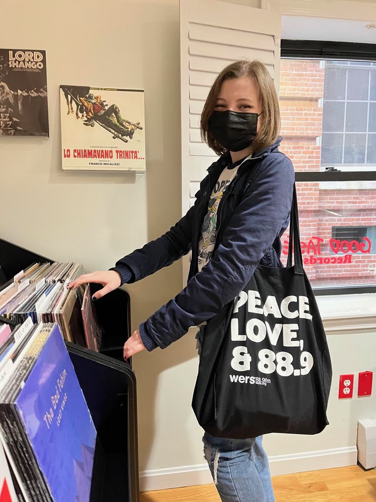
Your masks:
<svg viewBox="0 0 376 502"><path fill-rule="evenodd" d="M330 43L334 59L325 57L328 44L281 42L281 149L295 167L303 261L315 293L371 293L376 53L365 44ZM288 232L282 261L287 248Z"/></svg>

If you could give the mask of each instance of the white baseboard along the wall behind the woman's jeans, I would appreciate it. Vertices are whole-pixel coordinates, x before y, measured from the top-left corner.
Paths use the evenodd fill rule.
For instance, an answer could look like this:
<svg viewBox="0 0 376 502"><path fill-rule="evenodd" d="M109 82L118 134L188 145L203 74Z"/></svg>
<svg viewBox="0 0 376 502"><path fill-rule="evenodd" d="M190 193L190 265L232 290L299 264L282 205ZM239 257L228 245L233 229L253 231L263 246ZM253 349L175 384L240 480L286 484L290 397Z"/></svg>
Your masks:
<svg viewBox="0 0 376 502"><path fill-rule="evenodd" d="M292 455L269 457L272 476L306 472L333 467L356 465L356 446L334 448L331 450L309 451ZM207 464L183 465L140 472L140 490L153 491L180 486L194 486L212 483Z"/></svg>

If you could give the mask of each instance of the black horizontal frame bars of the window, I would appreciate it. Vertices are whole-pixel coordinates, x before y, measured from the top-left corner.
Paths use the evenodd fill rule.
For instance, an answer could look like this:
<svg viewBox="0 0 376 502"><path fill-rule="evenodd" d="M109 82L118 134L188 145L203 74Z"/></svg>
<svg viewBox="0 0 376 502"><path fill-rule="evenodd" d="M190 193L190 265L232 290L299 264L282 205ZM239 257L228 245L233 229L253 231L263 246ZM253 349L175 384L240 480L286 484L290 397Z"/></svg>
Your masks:
<svg viewBox="0 0 376 502"><path fill-rule="evenodd" d="M336 61L373 61L376 62L374 44L360 44L351 42L330 42L316 40L281 40L281 59L333 59ZM339 168L340 166L336 166ZM295 172L295 181L323 182L323 181L376 181L376 169L361 171L340 171L329 168L317 172ZM353 295L361 293L376 293L374 286L337 286L327 288L313 288L316 296Z"/></svg>

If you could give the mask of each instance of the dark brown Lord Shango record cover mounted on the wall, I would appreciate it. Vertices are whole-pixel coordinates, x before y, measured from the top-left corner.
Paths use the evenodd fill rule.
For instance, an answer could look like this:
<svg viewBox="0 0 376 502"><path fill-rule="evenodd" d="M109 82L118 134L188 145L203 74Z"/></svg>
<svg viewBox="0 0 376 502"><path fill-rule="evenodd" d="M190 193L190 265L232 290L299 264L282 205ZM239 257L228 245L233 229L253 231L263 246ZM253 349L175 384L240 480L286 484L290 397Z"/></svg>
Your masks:
<svg viewBox="0 0 376 502"><path fill-rule="evenodd" d="M46 51L0 49L0 136L49 136Z"/></svg>

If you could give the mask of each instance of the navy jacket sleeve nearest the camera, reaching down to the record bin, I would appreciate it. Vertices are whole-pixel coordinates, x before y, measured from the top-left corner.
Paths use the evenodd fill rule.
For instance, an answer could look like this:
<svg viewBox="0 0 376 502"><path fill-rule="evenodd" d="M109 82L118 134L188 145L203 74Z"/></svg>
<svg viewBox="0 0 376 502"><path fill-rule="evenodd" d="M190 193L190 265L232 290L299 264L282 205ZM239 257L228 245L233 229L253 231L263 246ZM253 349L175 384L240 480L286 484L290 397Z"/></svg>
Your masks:
<svg viewBox="0 0 376 502"><path fill-rule="evenodd" d="M140 334L148 350L167 347L234 300L286 222L293 184L294 169L287 157L272 159L261 170L210 262L181 293L141 324Z"/></svg>

